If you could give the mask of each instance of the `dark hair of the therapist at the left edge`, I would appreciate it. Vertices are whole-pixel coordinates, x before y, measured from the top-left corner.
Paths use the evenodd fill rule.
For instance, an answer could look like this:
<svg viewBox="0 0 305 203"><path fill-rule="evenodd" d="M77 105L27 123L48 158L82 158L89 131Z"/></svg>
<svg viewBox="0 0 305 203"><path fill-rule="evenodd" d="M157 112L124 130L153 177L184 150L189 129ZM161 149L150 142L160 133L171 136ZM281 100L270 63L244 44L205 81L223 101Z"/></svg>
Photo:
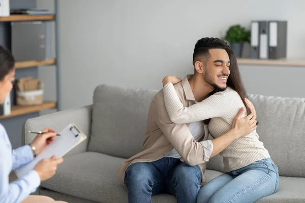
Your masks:
<svg viewBox="0 0 305 203"><path fill-rule="evenodd" d="M8 75L15 66L15 59L12 53L0 45L0 81L2 81L6 75Z"/></svg>

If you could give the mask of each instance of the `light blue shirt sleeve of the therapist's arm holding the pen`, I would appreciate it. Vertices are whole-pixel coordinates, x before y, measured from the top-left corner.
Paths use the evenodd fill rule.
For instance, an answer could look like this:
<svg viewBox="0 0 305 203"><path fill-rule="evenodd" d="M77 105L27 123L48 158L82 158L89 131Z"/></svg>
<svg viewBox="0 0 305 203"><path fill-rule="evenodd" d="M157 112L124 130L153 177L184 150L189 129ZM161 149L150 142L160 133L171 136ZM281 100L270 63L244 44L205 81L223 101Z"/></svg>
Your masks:
<svg viewBox="0 0 305 203"><path fill-rule="evenodd" d="M28 145L12 150L13 166L12 170L16 170L20 166L34 159L31 147Z"/></svg>

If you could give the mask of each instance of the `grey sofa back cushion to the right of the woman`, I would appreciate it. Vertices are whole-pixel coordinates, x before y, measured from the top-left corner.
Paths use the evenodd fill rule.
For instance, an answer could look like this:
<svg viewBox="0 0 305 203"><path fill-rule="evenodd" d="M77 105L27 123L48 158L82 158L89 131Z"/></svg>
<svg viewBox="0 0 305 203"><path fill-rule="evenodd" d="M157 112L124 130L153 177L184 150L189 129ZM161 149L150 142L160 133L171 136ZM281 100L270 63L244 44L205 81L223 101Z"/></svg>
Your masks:
<svg viewBox="0 0 305 203"><path fill-rule="evenodd" d="M305 177L305 98L249 95L257 112L259 139L281 176Z"/></svg>

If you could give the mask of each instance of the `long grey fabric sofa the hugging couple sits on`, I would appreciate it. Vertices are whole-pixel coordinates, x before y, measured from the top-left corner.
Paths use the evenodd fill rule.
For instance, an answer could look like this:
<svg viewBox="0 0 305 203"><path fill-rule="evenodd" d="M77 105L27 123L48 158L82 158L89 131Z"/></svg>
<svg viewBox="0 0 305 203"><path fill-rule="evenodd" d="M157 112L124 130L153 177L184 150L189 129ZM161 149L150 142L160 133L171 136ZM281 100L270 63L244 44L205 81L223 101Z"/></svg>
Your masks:
<svg viewBox="0 0 305 203"><path fill-rule="evenodd" d="M150 100L157 91L100 85L93 105L29 119L23 144L35 135L28 130L51 127L60 131L75 123L88 139L64 157L55 176L41 183L39 193L68 202L128 202L127 189L117 175L120 164L140 151ZM279 167L280 187L256 202L305 202L305 98L249 95L257 114L260 140ZM222 157L211 158L207 181L223 171ZM176 202L172 195L153 202Z"/></svg>

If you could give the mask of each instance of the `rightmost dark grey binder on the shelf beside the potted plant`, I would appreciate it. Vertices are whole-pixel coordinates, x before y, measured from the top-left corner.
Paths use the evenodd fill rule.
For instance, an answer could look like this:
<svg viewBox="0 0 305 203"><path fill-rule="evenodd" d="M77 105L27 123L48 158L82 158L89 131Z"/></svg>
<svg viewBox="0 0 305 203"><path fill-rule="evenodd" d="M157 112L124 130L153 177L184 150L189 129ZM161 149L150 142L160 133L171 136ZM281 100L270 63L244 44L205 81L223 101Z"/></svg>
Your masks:
<svg viewBox="0 0 305 203"><path fill-rule="evenodd" d="M269 59L285 58L287 53L287 21L269 21Z"/></svg>

